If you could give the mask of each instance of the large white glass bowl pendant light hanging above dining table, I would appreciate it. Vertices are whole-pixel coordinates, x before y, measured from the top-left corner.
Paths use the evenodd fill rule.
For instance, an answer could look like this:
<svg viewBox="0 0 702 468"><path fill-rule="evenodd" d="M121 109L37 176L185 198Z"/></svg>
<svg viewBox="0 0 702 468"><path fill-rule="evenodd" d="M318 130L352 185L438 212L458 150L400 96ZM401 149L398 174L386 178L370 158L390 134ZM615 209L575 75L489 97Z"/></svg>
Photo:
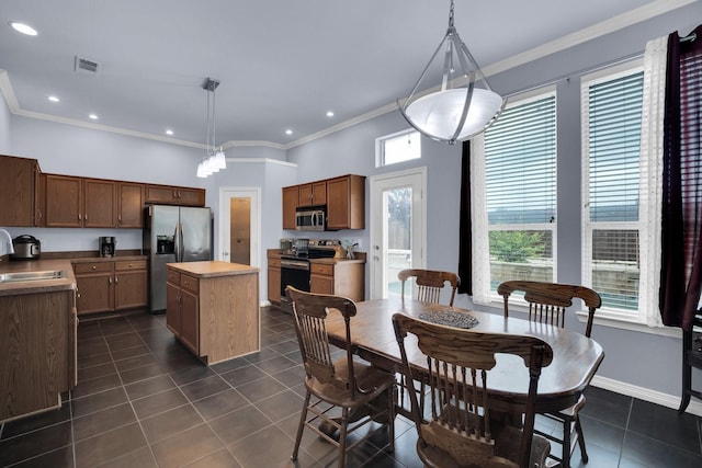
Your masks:
<svg viewBox="0 0 702 468"><path fill-rule="evenodd" d="M443 50L441 89L428 94L422 83L434 59ZM434 69L437 66L433 67ZM409 96L397 102L407 122L422 135L454 145L484 132L500 115L505 100L490 89L485 75L453 26L453 0L446 35L424 67Z"/></svg>

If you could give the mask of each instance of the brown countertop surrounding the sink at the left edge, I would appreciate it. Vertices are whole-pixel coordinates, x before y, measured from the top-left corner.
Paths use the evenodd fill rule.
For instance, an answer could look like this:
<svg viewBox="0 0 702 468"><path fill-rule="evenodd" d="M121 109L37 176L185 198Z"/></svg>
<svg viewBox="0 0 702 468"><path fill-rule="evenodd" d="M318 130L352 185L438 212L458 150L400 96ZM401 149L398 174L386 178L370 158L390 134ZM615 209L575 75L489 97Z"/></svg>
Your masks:
<svg viewBox="0 0 702 468"><path fill-rule="evenodd" d="M53 279L29 279L0 283L0 296L47 293L52 290L76 289L76 276L70 260L24 260L0 262L2 273L31 273L45 271L65 271L66 277Z"/></svg>

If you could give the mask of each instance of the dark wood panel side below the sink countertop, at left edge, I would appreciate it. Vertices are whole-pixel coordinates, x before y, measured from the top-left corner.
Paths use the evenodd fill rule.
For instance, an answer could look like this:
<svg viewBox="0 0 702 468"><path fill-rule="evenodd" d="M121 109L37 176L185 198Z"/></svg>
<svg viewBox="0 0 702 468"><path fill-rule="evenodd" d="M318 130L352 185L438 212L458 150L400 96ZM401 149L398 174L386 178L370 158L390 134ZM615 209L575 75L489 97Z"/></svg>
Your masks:
<svg viewBox="0 0 702 468"><path fill-rule="evenodd" d="M76 386L75 292L0 296L0 422L61 406Z"/></svg>

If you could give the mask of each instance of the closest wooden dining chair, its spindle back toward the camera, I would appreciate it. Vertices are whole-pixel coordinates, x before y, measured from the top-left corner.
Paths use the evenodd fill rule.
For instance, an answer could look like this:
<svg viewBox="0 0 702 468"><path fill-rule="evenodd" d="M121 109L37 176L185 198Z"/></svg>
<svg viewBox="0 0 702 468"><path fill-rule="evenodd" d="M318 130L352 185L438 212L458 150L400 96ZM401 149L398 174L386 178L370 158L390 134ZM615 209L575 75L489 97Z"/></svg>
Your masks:
<svg viewBox="0 0 702 468"><path fill-rule="evenodd" d="M393 316L395 335L409 379L418 378L408 355L418 346L427 358L431 414L424 419L417 393L410 391L417 429L417 453L429 467L543 467L551 449L534 435L536 391L542 367L553 350L535 336L478 333L430 323L403 313ZM407 334L417 344L406 343ZM497 354L522 358L526 403L489 390L490 370ZM516 379L521 376L514 376ZM529 380L529 384L526 384ZM429 411L428 411L429 412ZM505 414L523 414L521 429L505 423ZM495 418L498 416L498 418Z"/></svg>

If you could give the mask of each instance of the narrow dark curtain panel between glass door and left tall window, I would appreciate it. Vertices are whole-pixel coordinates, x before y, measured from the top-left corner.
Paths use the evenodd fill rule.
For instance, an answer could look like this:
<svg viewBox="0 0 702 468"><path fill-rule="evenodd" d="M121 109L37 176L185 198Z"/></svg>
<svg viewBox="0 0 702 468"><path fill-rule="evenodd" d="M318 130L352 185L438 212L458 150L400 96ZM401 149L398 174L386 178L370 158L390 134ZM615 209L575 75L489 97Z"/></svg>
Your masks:
<svg viewBox="0 0 702 468"><path fill-rule="evenodd" d="M458 221L458 293L473 295L473 236L471 233L471 141L461 157L461 219Z"/></svg>

